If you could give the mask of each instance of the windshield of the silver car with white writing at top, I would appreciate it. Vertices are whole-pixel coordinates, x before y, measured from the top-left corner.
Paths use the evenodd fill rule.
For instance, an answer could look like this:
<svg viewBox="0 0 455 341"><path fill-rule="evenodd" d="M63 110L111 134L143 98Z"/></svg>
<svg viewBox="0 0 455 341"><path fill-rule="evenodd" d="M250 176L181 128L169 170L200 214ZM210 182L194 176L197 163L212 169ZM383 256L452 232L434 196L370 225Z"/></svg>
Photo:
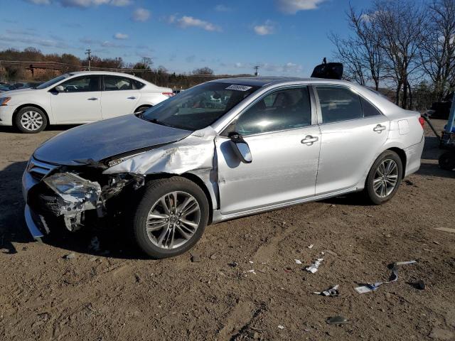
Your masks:
<svg viewBox="0 0 455 341"><path fill-rule="evenodd" d="M204 83L176 94L141 114L142 119L178 129L210 126L259 87Z"/></svg>

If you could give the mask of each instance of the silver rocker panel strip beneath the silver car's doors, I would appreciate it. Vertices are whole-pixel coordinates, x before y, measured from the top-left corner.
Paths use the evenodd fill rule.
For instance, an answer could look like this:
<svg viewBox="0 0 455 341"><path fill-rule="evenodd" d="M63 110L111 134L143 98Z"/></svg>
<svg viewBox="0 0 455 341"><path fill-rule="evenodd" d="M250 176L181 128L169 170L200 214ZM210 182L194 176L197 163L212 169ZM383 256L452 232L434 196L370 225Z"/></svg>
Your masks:
<svg viewBox="0 0 455 341"><path fill-rule="evenodd" d="M311 197L304 197L304 198L301 198L298 200L291 200L291 201L287 201L287 202L280 202L279 204L268 205L268 206L264 206L264 207L256 207L256 208L252 208L252 209L248 209L248 210L242 210L240 212L232 212L232 213L229 213L228 215L223 215L223 213L221 213L221 210L213 210L212 223L215 224L217 222L224 222L225 220L231 220L231 219L235 219L235 218L239 218L239 217L245 217L247 215L255 215L257 213L278 210L280 208L299 205L299 204L303 204L306 202L323 200L323 199L327 199L328 197L337 197L338 195L357 192L358 190L361 190L361 188L359 189L358 187L351 187L351 188L346 188L345 190L337 190L336 192L331 192L331 193L326 193L326 194L321 194L321 195L316 195L316 196L311 196ZM223 205L223 202L221 202L221 205Z"/></svg>

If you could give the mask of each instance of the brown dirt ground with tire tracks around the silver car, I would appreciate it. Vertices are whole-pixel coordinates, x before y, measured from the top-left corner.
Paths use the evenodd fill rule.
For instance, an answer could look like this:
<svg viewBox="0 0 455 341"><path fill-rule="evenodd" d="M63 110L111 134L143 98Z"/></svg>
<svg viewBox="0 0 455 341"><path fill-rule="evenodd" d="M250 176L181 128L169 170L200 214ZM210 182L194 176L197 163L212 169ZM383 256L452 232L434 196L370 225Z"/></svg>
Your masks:
<svg viewBox="0 0 455 341"><path fill-rule="evenodd" d="M429 132L422 168L391 202L348 195L215 224L193 262L144 259L119 231L96 232L97 252L90 232L31 240L21 173L65 129L0 129L0 340L455 340L455 234L434 229L455 227L455 172L438 168ZM398 281L354 290L408 260ZM336 284L338 297L313 294ZM348 323L328 325L336 315Z"/></svg>

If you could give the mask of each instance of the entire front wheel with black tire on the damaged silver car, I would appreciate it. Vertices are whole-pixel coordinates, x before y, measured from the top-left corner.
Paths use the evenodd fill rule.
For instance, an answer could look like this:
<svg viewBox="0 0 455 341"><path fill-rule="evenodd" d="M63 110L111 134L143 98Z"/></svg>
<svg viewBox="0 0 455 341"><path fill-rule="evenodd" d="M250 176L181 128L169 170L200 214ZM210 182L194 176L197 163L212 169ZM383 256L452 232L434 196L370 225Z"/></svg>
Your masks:
<svg viewBox="0 0 455 341"><path fill-rule="evenodd" d="M202 237L208 213L207 197L196 183L178 176L152 180L134 211L134 242L154 259L183 254Z"/></svg>

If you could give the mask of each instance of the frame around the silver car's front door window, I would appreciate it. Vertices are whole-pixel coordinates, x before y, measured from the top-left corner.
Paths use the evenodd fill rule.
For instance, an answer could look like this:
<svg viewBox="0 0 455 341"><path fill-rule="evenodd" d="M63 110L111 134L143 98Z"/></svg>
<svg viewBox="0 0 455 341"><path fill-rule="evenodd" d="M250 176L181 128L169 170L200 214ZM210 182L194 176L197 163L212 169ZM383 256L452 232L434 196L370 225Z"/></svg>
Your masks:
<svg viewBox="0 0 455 341"><path fill-rule="evenodd" d="M282 131L304 129L304 128L309 128L311 126L317 126L318 121L316 118L316 106L315 106L316 100L315 100L314 94L311 90L311 85L309 85L309 83L305 82L305 83L301 83L301 84L298 83L298 84L292 84L292 85L278 85L278 86L275 85L273 87L267 87L266 89L264 89L264 91L260 92L260 94L257 94L257 96L255 96L255 98L251 99L251 101L248 102L244 107L242 107L241 109L235 110L236 114L233 115L232 118L230 118L230 120L228 121L227 124L223 125L223 128L220 129L219 132L217 132L217 135L225 137L222 134L225 131L225 129L228 129L228 127L230 126L230 124L232 124L233 121L235 121L238 117L240 117L242 114L247 112L248 109L250 109L253 105L255 105L257 102L259 102L261 99L263 99L264 97L267 97L269 94L272 94L272 93L280 91L280 90L288 90L288 89L294 89L294 88L299 88L299 87L307 87L307 89L308 89L308 94L310 97L310 109L311 109L311 124L309 126L299 126L296 128L280 129L280 130L274 130L274 131L264 131L263 133L245 135L245 138L250 137L250 136L258 136L258 135L264 135L264 134L278 133L278 132L282 132ZM259 89L257 91L260 91L260 90L261 89ZM221 119L223 119L223 118L221 118ZM215 122L215 124L216 123L217 122ZM213 127L213 129L215 129L215 127ZM217 129L215 129L215 130L217 130Z"/></svg>

